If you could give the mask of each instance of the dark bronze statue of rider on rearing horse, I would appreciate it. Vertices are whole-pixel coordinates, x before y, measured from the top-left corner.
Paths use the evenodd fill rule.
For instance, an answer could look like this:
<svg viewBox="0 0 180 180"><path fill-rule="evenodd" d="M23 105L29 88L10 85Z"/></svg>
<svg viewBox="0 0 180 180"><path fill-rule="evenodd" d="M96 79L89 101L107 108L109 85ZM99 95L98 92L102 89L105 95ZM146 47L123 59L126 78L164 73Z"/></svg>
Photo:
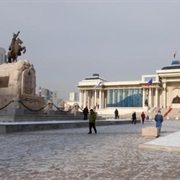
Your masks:
<svg viewBox="0 0 180 180"><path fill-rule="evenodd" d="M21 51L23 51L23 54L26 52L26 47L21 46L23 41L18 38L20 31L17 32L17 34L13 34L13 38L11 40L11 44L9 46L9 51L7 54L8 62L17 62L17 57L21 56Z"/></svg>

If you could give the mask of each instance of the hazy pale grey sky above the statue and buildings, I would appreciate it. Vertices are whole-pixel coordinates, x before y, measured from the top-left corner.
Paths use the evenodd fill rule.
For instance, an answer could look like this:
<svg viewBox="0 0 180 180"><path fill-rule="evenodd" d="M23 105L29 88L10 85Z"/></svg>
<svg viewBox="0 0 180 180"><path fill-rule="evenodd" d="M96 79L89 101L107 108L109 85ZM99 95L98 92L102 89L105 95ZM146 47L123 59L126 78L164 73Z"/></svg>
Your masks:
<svg viewBox="0 0 180 180"><path fill-rule="evenodd" d="M180 57L178 0L0 0L0 17L0 47L21 31L37 87L64 99L93 73L140 80Z"/></svg>

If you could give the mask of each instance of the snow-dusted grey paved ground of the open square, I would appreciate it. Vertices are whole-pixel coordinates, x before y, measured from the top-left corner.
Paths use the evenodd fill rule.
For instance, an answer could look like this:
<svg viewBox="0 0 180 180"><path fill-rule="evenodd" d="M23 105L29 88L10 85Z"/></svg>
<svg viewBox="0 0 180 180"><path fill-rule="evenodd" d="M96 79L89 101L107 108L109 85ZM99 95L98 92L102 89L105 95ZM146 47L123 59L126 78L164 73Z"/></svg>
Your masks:
<svg viewBox="0 0 180 180"><path fill-rule="evenodd" d="M144 125L0 135L2 180L179 180L180 152L139 148L151 141ZM180 121L163 123L161 137L180 131ZM179 136L179 134L177 134ZM180 138L180 137L178 137Z"/></svg>

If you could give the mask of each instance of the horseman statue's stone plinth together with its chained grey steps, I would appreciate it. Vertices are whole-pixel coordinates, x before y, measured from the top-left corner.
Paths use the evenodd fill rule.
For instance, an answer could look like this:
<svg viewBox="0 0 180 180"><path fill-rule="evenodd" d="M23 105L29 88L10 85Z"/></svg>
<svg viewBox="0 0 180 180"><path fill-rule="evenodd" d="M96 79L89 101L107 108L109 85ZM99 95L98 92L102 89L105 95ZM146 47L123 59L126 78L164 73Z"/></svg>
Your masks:
<svg viewBox="0 0 180 180"><path fill-rule="evenodd" d="M0 65L0 122L82 119L57 109L36 95L36 71L28 60Z"/></svg>

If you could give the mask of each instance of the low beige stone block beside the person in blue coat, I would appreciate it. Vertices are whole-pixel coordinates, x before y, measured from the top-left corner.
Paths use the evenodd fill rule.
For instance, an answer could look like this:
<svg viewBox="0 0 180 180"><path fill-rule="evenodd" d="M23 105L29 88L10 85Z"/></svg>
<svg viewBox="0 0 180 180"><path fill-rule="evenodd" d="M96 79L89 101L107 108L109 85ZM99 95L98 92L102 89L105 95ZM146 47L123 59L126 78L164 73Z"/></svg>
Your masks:
<svg viewBox="0 0 180 180"><path fill-rule="evenodd" d="M157 138L160 134L160 129L156 127L142 128L142 136L145 138Z"/></svg>

